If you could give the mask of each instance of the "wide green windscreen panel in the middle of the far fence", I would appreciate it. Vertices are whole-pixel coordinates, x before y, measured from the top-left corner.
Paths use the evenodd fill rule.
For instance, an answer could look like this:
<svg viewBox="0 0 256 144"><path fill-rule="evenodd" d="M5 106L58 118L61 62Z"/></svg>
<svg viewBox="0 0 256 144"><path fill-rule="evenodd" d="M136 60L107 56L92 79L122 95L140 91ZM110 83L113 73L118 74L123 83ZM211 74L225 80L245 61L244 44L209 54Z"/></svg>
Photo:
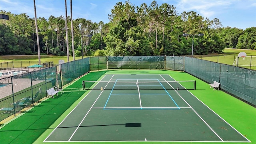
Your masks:
<svg viewBox="0 0 256 144"><path fill-rule="evenodd" d="M164 69L165 56L108 56L108 69Z"/></svg>

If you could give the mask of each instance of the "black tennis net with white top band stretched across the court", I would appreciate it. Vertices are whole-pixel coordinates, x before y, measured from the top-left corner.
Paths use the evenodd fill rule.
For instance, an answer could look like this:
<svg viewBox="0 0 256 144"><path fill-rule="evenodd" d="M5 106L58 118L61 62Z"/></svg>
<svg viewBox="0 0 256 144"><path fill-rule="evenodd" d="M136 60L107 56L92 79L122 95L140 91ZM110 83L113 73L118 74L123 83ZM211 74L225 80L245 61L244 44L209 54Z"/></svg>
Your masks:
<svg viewBox="0 0 256 144"><path fill-rule="evenodd" d="M83 90L195 90L196 81L164 81L164 80L115 80L82 82Z"/></svg>

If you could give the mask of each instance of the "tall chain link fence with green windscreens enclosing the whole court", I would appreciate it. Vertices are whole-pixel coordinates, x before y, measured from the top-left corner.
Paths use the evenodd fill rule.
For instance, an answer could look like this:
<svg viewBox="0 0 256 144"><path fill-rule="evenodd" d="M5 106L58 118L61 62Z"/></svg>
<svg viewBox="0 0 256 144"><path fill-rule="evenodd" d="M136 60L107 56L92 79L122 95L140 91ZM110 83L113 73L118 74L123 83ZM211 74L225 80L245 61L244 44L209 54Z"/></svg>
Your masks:
<svg viewBox="0 0 256 144"><path fill-rule="evenodd" d="M14 68L14 63L9 65ZM98 56L56 66L49 63L47 68L0 76L0 121L33 106L52 87L62 87L87 72L106 69L185 71L208 83L217 81L222 90L256 105L256 70L186 56Z"/></svg>

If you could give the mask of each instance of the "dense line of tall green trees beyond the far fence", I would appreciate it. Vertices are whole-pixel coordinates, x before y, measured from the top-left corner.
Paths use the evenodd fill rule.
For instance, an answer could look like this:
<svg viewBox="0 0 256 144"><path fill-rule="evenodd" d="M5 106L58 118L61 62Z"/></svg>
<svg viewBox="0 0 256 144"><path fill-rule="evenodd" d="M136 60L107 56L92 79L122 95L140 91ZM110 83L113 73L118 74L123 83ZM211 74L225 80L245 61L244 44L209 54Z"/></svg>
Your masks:
<svg viewBox="0 0 256 144"><path fill-rule="evenodd" d="M9 16L0 21L1 55L37 54L34 18L0 13ZM218 18L209 20L193 11L178 14L175 6L167 3L135 6L130 1L117 2L108 17L106 24L85 18L72 20L75 56L82 56L82 51L83 56L191 55L192 39L194 55L221 53L224 48L256 50L256 27L224 28ZM37 18L40 53L67 55L65 20L64 16ZM67 21L72 56L70 16Z"/></svg>

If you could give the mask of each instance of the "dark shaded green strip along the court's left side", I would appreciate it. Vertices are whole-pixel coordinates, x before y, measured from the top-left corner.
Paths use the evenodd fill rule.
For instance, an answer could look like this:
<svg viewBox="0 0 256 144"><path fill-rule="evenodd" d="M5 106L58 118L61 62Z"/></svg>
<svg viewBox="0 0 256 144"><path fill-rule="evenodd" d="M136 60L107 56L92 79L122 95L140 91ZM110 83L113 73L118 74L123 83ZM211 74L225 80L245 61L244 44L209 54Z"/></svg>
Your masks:
<svg viewBox="0 0 256 144"><path fill-rule="evenodd" d="M106 71L89 73L82 78L98 80ZM82 80L72 85L82 88ZM70 85L70 86L72 86ZM0 144L32 144L86 91L64 92L49 98L30 111L18 116L0 130Z"/></svg>

